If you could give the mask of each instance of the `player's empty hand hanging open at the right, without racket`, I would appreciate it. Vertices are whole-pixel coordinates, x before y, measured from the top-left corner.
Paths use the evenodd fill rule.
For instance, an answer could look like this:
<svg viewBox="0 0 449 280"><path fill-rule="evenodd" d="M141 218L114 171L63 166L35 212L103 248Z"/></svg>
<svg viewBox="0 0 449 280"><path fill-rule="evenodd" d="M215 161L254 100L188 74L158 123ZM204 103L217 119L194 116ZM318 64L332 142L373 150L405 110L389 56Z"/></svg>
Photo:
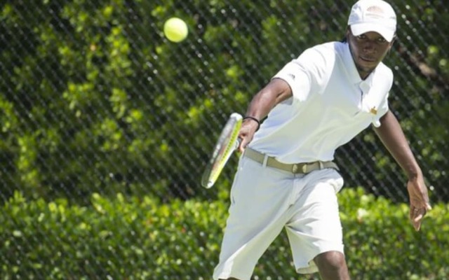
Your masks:
<svg viewBox="0 0 449 280"><path fill-rule="evenodd" d="M431 209L427 187L422 176L409 179L407 182L408 196L410 197L410 221L415 230L420 230L422 218Z"/></svg>

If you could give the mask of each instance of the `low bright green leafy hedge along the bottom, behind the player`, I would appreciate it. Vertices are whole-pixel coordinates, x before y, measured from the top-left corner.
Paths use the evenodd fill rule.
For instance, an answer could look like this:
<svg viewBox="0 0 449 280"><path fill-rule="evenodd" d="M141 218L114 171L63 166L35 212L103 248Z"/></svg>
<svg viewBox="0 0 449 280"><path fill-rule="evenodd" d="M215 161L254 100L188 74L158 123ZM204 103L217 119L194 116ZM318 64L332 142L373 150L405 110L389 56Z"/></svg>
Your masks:
<svg viewBox="0 0 449 280"><path fill-rule="evenodd" d="M15 193L0 214L0 274L2 279L210 279L227 217L225 196L162 204L152 197L93 195L91 204L81 207L66 200L27 201ZM421 232L408 222L407 205L361 189L344 189L340 205L353 279L449 275L448 205L435 205ZM255 275L298 279L284 234L262 256Z"/></svg>

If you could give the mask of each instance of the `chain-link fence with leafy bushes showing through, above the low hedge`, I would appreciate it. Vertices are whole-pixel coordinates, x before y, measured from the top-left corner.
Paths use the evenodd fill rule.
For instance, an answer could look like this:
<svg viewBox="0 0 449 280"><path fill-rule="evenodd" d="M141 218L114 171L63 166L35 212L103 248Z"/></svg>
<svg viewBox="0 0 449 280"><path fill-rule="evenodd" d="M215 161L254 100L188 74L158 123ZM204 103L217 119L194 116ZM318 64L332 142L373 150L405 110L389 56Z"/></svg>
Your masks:
<svg viewBox="0 0 449 280"><path fill-rule="evenodd" d="M93 194L220 199L236 158L217 188L204 190L199 183L220 127L230 113L244 113L253 94L302 50L342 39L351 4L2 1L0 200L17 192L82 207ZM448 6L420 0L391 5L398 38L385 60L395 75L390 108L420 162L431 200L448 202ZM189 26L181 43L162 33L173 16ZM346 188L407 202L406 177L372 130L340 148L336 161ZM25 222L15 223L19 229ZM20 258L27 256L1 255L0 265Z"/></svg>

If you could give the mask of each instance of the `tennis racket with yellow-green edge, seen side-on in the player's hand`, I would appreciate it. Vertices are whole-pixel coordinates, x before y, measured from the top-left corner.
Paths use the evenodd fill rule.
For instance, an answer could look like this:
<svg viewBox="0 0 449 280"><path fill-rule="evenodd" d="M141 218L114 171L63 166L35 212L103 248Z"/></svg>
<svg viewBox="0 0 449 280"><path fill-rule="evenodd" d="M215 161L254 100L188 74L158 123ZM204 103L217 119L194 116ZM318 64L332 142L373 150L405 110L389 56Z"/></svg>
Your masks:
<svg viewBox="0 0 449 280"><path fill-rule="evenodd" d="M213 153L201 178L201 186L204 188L211 188L213 186L232 153L234 153L236 148L239 148L239 131L242 120L243 117L239 113L232 113L225 127L222 128L220 137L213 148Z"/></svg>

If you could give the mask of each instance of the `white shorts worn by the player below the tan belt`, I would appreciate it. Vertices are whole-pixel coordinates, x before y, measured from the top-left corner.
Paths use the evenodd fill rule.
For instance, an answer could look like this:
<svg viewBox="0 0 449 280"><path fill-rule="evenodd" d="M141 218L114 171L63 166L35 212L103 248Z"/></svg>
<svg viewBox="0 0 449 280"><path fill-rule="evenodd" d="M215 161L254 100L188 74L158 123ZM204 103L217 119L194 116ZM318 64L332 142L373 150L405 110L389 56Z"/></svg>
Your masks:
<svg viewBox="0 0 449 280"><path fill-rule="evenodd" d="M299 273L317 272L314 258L320 253L344 253L336 196L342 186L335 169L292 174L242 156L213 278L250 279L283 228Z"/></svg>

